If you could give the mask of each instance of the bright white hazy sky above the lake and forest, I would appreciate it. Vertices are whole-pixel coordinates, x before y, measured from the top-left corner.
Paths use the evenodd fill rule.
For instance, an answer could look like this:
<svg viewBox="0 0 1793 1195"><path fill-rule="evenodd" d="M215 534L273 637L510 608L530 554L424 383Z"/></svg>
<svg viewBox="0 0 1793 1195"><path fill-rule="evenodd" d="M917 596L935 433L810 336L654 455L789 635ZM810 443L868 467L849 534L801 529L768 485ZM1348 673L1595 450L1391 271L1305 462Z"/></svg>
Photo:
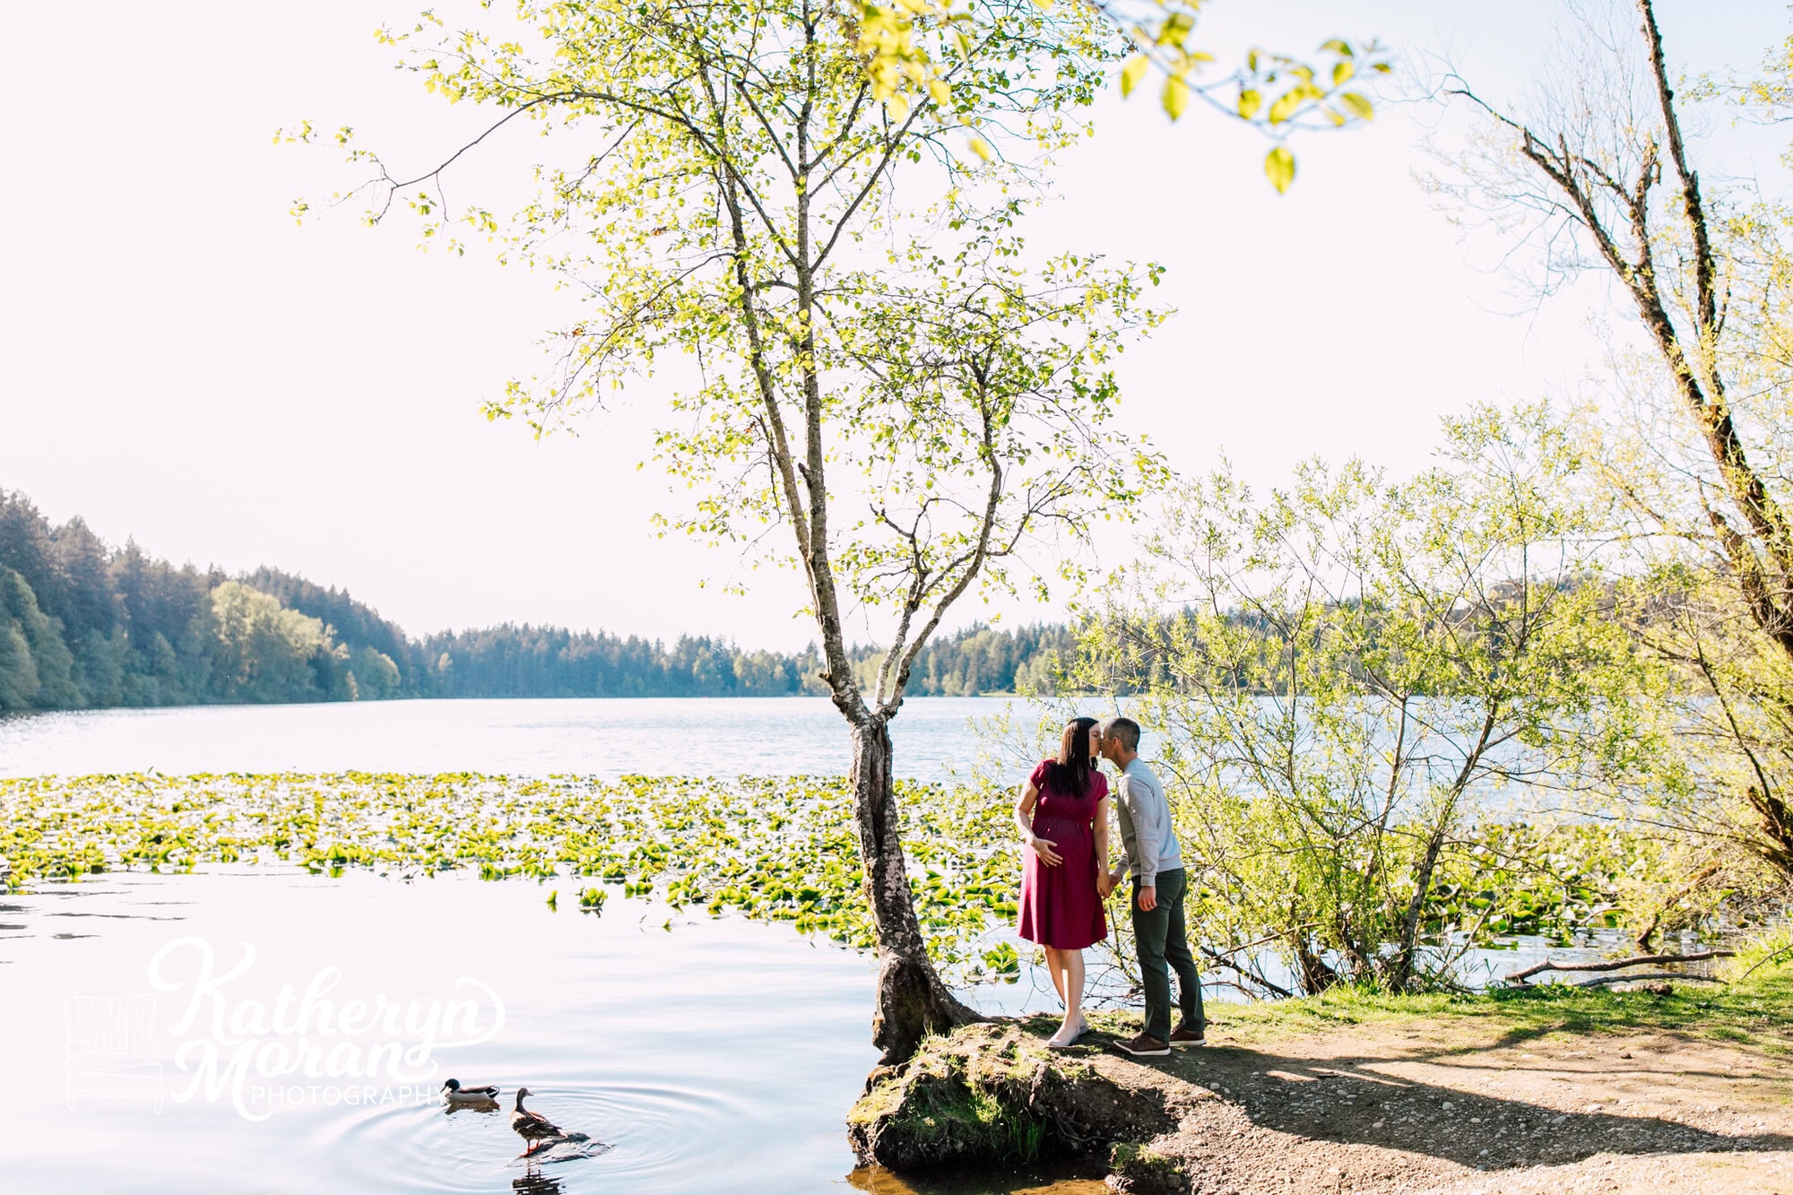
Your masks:
<svg viewBox="0 0 1793 1195"><path fill-rule="evenodd" d="M1754 66L1793 32L1779 0L1659 9L1687 72ZM1216 0L1200 36L1223 63L1250 43L1377 38L1511 95L1562 11ZM411 14L384 0L0 0L0 488L176 562L348 589L411 633L529 621L809 642L796 574L746 576L730 553L651 526L678 502L637 468L663 409L654 384L579 436L534 441L484 420L481 404L567 321L567 294L477 251L420 253L403 221L289 215L344 176L326 151L274 145L276 127L353 124L362 144L423 161L479 124L375 43ZM1122 418L1178 470L1225 454L1275 484L1304 458L1357 454L1406 472L1470 402L1598 391L1617 296L1598 282L1526 296L1501 269L1504 242L1452 224L1418 185L1434 169L1424 144L1449 149L1460 118L1404 102L1304 138L1280 197L1248 129L1200 109L1171 126L1148 97L1115 93L1096 120L1031 231L1042 248L1167 267L1155 298L1178 314L1126 355ZM1782 147L1714 118L1696 154L1777 190ZM1103 551L1121 563L1128 547ZM746 596L723 592L741 580ZM968 605L956 621L992 614L1056 608Z"/></svg>

